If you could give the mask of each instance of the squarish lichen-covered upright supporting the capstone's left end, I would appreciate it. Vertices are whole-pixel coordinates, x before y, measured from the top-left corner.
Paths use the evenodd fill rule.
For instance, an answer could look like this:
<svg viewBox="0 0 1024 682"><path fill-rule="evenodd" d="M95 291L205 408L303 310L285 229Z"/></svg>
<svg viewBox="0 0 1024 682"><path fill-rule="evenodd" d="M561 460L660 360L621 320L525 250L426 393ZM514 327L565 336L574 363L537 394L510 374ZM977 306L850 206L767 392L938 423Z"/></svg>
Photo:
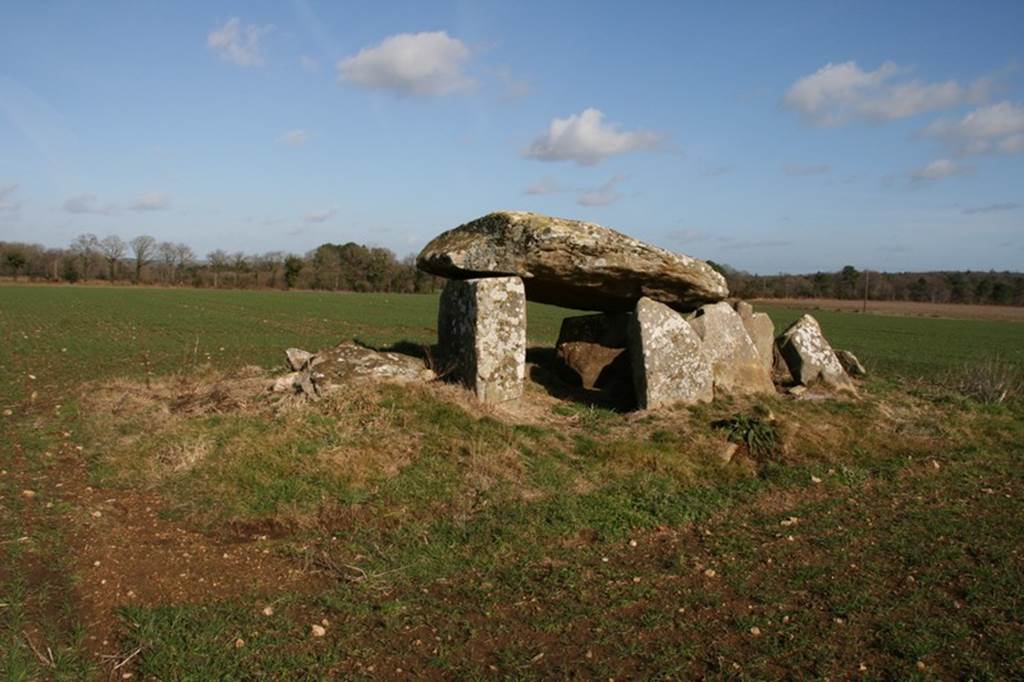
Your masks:
<svg viewBox="0 0 1024 682"><path fill-rule="evenodd" d="M450 280L437 313L441 372L483 402L522 395L526 294L516 276Z"/></svg>

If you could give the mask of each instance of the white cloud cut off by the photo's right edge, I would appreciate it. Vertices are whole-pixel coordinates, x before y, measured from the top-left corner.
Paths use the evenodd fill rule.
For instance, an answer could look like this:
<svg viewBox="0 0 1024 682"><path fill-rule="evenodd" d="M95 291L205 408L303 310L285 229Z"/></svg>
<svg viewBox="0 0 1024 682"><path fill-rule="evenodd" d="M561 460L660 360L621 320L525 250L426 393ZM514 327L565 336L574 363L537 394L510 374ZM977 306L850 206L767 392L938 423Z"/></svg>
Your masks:
<svg viewBox="0 0 1024 682"><path fill-rule="evenodd" d="M976 109L959 121L936 121L925 133L941 137L957 154L1020 154L1024 152L1024 106L1000 101Z"/></svg>

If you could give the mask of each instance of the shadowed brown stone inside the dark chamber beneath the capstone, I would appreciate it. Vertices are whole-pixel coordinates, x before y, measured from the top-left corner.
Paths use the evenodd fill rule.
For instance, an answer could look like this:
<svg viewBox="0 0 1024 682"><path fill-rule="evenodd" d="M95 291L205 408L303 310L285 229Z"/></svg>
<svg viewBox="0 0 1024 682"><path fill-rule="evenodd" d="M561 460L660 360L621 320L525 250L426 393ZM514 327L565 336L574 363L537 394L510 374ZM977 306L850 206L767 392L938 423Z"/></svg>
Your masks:
<svg viewBox="0 0 1024 682"><path fill-rule="evenodd" d="M580 315L562 321L555 344L555 357L591 390L614 383L622 373L629 379L629 353L626 352L627 313Z"/></svg>

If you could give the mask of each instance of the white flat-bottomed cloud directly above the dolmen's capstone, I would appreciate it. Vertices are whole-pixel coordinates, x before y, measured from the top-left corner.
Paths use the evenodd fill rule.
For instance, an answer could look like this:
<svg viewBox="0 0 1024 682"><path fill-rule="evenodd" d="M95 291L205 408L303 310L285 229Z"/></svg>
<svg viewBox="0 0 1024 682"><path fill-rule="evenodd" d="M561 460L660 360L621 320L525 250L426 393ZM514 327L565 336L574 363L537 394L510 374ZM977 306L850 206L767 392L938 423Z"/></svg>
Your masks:
<svg viewBox="0 0 1024 682"><path fill-rule="evenodd" d="M523 150L522 156L539 161L574 161L594 166L602 159L630 152L651 152L665 147L665 137L650 130L620 131L604 123L604 114L585 109L565 119L554 119L548 131Z"/></svg>

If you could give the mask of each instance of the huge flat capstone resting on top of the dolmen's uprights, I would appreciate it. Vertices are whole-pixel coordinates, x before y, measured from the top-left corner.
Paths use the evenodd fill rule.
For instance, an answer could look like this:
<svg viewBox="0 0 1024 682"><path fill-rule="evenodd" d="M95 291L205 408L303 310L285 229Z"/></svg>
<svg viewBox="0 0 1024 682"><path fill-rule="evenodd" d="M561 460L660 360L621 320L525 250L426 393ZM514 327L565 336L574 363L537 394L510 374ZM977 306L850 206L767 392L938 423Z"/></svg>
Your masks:
<svg viewBox="0 0 1024 682"><path fill-rule="evenodd" d="M537 213L490 213L450 229L416 264L456 280L515 274L527 299L581 310L627 312L641 297L692 310L729 293L725 278L702 260Z"/></svg>

